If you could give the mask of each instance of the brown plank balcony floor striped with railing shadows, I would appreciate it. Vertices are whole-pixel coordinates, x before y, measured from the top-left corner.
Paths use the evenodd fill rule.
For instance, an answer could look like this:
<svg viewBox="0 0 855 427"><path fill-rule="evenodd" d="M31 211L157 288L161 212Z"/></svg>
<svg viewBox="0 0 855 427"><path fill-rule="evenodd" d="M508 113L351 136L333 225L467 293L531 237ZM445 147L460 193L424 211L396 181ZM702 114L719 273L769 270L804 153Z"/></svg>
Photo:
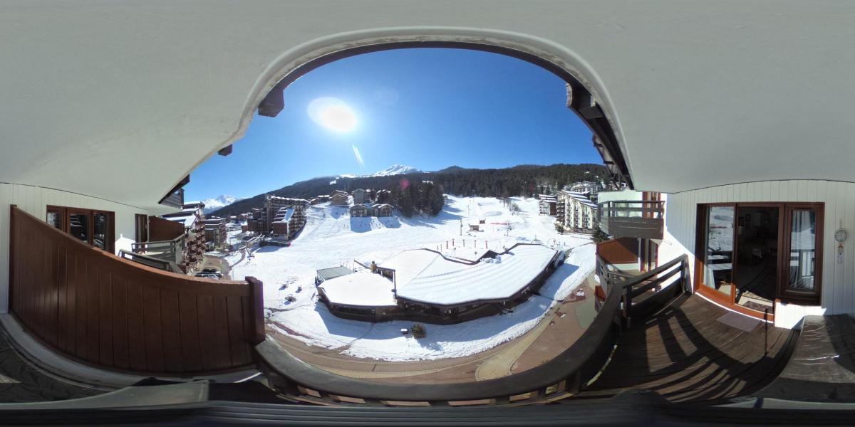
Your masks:
<svg viewBox="0 0 855 427"><path fill-rule="evenodd" d="M730 313L682 295L632 325L600 377L578 398L608 398L648 389L669 401L722 401L751 395L787 364L798 334L758 322L750 331L719 321Z"/></svg>

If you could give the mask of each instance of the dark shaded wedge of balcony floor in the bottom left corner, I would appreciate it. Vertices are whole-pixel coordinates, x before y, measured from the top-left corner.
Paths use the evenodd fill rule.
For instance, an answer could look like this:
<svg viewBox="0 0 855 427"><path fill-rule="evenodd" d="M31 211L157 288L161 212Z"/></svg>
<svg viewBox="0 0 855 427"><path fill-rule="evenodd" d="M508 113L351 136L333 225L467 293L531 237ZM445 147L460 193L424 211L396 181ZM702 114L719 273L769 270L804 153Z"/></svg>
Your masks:
<svg viewBox="0 0 855 427"><path fill-rule="evenodd" d="M8 340L0 330L0 403L63 401L103 393L44 375L22 360Z"/></svg>

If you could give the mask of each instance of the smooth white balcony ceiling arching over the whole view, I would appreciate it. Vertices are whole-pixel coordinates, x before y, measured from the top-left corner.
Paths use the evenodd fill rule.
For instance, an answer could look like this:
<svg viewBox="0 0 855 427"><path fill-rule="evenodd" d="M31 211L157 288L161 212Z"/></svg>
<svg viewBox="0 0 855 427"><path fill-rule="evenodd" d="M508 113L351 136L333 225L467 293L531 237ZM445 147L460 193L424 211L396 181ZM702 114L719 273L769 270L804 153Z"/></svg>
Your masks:
<svg viewBox="0 0 855 427"><path fill-rule="evenodd" d="M582 74L637 189L855 181L853 22L848 1L5 1L0 182L155 206L287 67L421 33L492 34Z"/></svg>

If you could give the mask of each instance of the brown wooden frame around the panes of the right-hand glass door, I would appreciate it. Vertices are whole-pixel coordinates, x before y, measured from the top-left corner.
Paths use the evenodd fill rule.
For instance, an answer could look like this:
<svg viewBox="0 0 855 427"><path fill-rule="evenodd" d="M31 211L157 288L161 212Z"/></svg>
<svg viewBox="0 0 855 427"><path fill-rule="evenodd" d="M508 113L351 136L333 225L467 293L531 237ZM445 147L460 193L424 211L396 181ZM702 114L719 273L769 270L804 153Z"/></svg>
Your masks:
<svg viewBox="0 0 855 427"><path fill-rule="evenodd" d="M712 289L710 286L703 283L704 278L704 260L706 253L706 238L707 238L707 215L711 207L728 207L734 208L734 249L731 255L732 272L730 295L723 294ZM749 316L764 319L764 313L758 312L751 308L742 307L736 303L736 277L739 268L739 251L740 244L738 239L739 233L739 216L740 208L778 208L778 251L777 251L777 284L775 285L775 301L772 305L772 313L766 317L769 321L775 320L775 304L778 301L793 302L795 304L815 304L822 297L822 270L823 270L823 225L824 225L824 208L825 203L822 202L727 202L727 203L698 203L697 205L697 223L695 232L695 268L693 290L694 292L704 295L706 298L728 307L736 312L747 314ZM796 294L787 292L786 278L789 277L788 261L790 254L790 236L789 231L792 228L791 220L794 210L813 210L817 213L816 219L816 254L814 280L816 290L811 294Z"/></svg>

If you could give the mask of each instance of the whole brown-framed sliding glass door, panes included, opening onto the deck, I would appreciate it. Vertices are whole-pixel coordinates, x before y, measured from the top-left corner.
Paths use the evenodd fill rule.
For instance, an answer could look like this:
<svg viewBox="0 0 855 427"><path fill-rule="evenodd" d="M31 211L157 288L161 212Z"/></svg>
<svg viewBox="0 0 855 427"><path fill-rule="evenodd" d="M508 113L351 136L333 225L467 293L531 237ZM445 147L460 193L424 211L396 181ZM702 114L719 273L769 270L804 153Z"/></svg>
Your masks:
<svg viewBox="0 0 855 427"><path fill-rule="evenodd" d="M695 289L761 317L775 301L819 303L823 203L728 203L698 207Z"/></svg>

